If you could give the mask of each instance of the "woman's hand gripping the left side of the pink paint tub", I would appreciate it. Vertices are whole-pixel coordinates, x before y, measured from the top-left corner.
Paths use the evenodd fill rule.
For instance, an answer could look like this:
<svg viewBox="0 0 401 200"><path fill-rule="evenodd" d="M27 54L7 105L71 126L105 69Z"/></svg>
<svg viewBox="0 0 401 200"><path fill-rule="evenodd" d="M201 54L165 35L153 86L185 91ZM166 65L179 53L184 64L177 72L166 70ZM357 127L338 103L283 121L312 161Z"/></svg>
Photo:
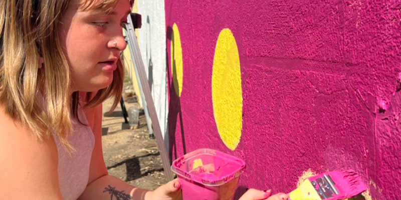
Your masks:
<svg viewBox="0 0 401 200"><path fill-rule="evenodd" d="M147 200L181 200L181 184L178 179L175 178L153 191L149 191L149 198Z"/></svg>

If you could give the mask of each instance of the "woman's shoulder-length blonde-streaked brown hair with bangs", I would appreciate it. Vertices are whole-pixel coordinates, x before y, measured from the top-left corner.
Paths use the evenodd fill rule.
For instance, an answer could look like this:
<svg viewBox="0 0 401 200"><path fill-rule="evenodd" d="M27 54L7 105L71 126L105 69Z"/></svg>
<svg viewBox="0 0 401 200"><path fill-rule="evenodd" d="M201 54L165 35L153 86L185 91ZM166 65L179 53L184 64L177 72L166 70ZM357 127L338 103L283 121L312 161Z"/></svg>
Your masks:
<svg viewBox="0 0 401 200"><path fill-rule="evenodd" d="M96 4L95 0L83 0L84 9L104 10L113 8L117 1ZM78 117L79 95L70 95L70 69L58 36L69 2L0 0L0 103L8 115L27 125L38 138L54 132L71 148L66 137L72 131L71 117ZM44 59L43 67L39 67L40 57ZM113 82L97 91L85 106L114 96L112 109L115 108L121 97L124 71L120 60L117 66ZM43 97L38 96L40 93Z"/></svg>

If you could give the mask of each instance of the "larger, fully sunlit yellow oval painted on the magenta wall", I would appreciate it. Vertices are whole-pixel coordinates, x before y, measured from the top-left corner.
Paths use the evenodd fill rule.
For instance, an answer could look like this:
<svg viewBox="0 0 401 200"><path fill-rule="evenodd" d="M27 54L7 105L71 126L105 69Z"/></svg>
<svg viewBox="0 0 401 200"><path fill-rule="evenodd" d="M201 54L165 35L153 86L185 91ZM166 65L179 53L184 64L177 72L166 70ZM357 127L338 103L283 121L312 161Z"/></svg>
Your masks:
<svg viewBox="0 0 401 200"><path fill-rule="evenodd" d="M220 137L235 150L242 132L241 66L237 43L230 29L217 40L212 73L212 100Z"/></svg>

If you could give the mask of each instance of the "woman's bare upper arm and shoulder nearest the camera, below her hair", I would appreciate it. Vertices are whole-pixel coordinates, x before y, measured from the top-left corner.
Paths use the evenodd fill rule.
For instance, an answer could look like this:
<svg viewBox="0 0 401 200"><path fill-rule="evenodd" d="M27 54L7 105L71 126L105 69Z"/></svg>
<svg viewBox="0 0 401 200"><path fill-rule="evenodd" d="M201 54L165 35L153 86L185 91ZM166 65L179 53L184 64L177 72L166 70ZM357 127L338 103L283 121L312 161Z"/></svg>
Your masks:
<svg viewBox="0 0 401 200"><path fill-rule="evenodd" d="M57 146L11 119L0 105L0 195L2 199L58 199Z"/></svg>

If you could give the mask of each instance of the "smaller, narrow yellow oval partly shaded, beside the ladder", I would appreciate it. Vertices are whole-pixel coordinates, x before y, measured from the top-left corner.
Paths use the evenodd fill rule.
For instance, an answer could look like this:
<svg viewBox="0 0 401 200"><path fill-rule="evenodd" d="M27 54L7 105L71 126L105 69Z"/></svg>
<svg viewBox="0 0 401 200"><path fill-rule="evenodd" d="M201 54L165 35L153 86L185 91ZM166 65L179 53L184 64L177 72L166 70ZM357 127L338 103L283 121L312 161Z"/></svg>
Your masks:
<svg viewBox="0 0 401 200"><path fill-rule="evenodd" d="M182 48L179 36L178 26L176 23L172 25L171 35L171 73L174 84L175 93L181 96L182 91Z"/></svg>

